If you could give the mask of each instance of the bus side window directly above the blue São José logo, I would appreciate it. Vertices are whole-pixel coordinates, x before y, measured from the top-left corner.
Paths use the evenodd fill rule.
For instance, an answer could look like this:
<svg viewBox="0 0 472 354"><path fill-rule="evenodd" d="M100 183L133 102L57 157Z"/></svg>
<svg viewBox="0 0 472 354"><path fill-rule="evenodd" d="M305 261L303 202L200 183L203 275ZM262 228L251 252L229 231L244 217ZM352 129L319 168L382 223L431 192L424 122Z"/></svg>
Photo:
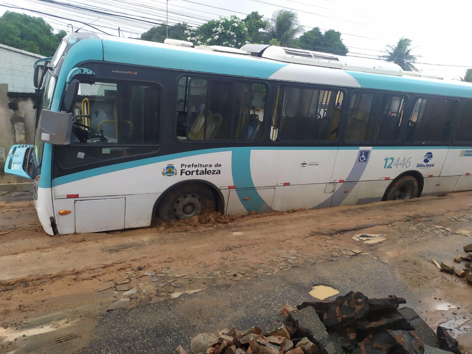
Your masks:
<svg viewBox="0 0 472 354"><path fill-rule="evenodd" d="M457 101L419 97L413 104L405 142L445 142L450 135Z"/></svg>

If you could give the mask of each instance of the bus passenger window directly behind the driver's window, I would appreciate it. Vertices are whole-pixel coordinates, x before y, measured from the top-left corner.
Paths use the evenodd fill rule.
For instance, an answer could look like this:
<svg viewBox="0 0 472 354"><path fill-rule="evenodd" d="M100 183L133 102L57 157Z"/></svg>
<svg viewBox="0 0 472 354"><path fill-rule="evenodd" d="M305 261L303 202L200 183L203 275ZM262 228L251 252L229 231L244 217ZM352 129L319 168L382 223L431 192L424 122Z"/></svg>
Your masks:
<svg viewBox="0 0 472 354"><path fill-rule="evenodd" d="M186 95L181 94L183 87ZM178 139L253 141L261 137L264 84L183 77L178 90Z"/></svg>

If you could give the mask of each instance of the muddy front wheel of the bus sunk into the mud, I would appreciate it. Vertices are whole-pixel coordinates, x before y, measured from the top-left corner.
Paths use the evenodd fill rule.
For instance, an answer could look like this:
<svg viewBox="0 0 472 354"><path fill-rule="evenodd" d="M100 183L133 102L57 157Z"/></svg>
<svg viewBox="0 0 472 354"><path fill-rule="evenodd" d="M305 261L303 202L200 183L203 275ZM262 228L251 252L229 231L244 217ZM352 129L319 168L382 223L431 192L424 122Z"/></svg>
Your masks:
<svg viewBox="0 0 472 354"><path fill-rule="evenodd" d="M158 215L164 221L187 219L205 211L215 211L216 201L211 188L203 184L186 184L172 188L162 197Z"/></svg>

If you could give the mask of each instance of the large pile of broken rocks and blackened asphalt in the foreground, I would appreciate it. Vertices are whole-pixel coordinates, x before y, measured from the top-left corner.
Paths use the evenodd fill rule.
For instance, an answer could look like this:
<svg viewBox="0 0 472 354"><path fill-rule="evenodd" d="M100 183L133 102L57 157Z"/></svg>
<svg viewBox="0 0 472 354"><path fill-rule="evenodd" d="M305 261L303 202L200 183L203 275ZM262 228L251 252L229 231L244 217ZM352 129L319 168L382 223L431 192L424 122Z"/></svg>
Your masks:
<svg viewBox="0 0 472 354"><path fill-rule="evenodd" d="M218 336L202 333L192 339L190 350L193 354L460 354L457 341L445 329L439 328L436 337L412 309L398 310L401 303L405 299L396 296L369 299L349 292L332 302L305 302L297 308L286 304L279 319L265 329L233 327ZM187 352L178 346L174 354Z"/></svg>

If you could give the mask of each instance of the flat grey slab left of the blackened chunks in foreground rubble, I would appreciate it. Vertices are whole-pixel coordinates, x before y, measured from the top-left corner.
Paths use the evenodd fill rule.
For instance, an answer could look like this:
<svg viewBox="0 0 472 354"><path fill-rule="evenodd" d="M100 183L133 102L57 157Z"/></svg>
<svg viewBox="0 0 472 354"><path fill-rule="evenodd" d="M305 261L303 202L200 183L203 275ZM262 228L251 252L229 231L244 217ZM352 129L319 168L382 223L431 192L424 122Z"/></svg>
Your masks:
<svg viewBox="0 0 472 354"><path fill-rule="evenodd" d="M315 344L319 344L328 337L325 325L311 306L299 311L292 311L289 317L294 321L300 337L307 337Z"/></svg>

